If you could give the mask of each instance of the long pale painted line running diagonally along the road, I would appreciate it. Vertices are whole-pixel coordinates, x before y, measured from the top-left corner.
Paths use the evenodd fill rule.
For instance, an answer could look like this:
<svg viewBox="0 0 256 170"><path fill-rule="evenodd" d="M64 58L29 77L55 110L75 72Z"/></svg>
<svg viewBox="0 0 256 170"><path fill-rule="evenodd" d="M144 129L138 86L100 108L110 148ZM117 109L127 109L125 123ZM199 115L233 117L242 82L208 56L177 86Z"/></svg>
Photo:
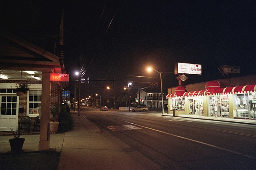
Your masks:
<svg viewBox="0 0 256 170"><path fill-rule="evenodd" d="M130 122L127 122L127 121L124 121L124 122L130 123ZM220 150L225 150L225 151L227 151L227 152L231 152L231 153L234 153L234 154L246 156L246 157L248 157L248 158L252 158L252 159L255 159L255 160L256 160L255 157L250 156L250 155L246 155L246 154L242 154L242 153L240 153L240 152L235 152L235 151L233 151L233 150L228 150L228 149L225 149L225 148L220 148L220 147L215 146L215 145L212 145L212 144L200 142L200 141L198 141L198 140L193 140L193 139L190 139L190 138L185 138L185 137L182 137L182 136L178 136L178 135L176 135L176 134L167 133L167 132L164 132L164 131L161 131L161 130L157 130L157 129L154 129L154 128L144 127L144 126L142 126L142 125L138 125L138 124L135 124L135 123L130 123L130 124L136 125L136 126L139 126L139 127L143 127L143 128L147 128L147 129L150 129L150 130L154 130L154 131L157 131L157 132L161 132L161 133L164 133L164 134L168 134L168 135L171 135L171 136L175 136L175 137L178 137L178 138L190 140L190 141L192 141L192 142L197 142L197 143L200 143L200 144L204 144L204 145L207 145L207 146L211 146L211 147L213 147L213 148L218 148L218 149L220 149Z"/></svg>

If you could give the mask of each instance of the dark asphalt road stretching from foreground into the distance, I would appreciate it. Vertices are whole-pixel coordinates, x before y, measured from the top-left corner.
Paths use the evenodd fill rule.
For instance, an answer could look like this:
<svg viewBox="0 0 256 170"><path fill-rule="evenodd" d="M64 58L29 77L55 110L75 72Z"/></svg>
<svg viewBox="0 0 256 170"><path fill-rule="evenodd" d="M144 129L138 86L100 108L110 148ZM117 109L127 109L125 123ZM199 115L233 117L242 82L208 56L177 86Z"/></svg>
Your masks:
<svg viewBox="0 0 256 170"><path fill-rule="evenodd" d="M254 125L164 117L152 111L82 107L81 114L162 169L256 169Z"/></svg>

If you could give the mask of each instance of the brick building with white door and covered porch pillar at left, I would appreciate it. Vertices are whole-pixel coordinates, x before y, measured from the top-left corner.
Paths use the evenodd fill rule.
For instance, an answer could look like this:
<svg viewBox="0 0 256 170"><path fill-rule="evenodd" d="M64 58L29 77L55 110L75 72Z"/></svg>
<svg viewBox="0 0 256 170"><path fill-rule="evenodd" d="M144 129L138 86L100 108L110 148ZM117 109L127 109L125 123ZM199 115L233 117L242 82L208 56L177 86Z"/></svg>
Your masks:
<svg viewBox="0 0 256 170"><path fill-rule="evenodd" d="M60 104L62 90L67 87L65 82L50 81L51 73L66 73L63 61L63 13L54 16L58 16L59 20L47 21L48 25L42 23L40 27L46 35L42 32L37 34L35 30L32 34L28 31L33 30L32 25L28 24L24 32L21 31L23 25L12 28L12 32L2 29L0 38L1 131L17 129L20 118L28 116L31 120L28 131L31 132L34 130L34 120L39 116L39 150L50 148L50 107L55 103ZM24 82L30 85L30 90L18 96L16 85Z"/></svg>

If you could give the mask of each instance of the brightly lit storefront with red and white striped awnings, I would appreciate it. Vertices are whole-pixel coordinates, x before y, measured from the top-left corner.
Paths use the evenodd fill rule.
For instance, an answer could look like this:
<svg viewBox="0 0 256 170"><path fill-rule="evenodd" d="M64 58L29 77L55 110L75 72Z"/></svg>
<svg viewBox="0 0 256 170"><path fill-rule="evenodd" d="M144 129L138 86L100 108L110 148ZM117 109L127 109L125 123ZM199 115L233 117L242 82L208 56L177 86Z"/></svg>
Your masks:
<svg viewBox="0 0 256 170"><path fill-rule="evenodd" d="M256 119L256 75L179 86L168 92L168 113L175 116L216 113L231 119Z"/></svg>

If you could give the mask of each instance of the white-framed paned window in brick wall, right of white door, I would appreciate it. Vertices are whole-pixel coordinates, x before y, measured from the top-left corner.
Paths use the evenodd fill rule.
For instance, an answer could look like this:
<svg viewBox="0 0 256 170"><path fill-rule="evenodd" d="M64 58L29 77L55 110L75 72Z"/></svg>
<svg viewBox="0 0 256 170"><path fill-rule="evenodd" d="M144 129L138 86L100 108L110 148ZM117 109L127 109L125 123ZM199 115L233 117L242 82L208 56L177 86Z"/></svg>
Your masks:
<svg viewBox="0 0 256 170"><path fill-rule="evenodd" d="M29 91L29 115L40 115L41 114L41 101L42 91L41 90L30 90Z"/></svg>

